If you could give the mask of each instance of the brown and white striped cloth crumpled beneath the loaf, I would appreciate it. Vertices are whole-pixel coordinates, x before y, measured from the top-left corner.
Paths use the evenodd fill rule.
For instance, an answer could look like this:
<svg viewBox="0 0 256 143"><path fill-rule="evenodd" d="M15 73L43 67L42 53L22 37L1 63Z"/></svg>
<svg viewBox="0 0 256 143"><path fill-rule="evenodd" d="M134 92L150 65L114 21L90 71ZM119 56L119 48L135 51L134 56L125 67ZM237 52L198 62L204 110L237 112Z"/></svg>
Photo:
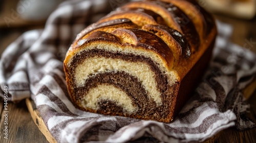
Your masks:
<svg viewBox="0 0 256 143"><path fill-rule="evenodd" d="M58 142L190 142L254 123L242 90L254 78L256 56L228 41L232 29L218 22L219 37L204 80L172 123L107 116L76 109L69 100L63 58L76 34L124 1L66 1L49 17L44 30L24 33L0 60L1 97L32 98ZM236 124L237 123L237 124Z"/></svg>

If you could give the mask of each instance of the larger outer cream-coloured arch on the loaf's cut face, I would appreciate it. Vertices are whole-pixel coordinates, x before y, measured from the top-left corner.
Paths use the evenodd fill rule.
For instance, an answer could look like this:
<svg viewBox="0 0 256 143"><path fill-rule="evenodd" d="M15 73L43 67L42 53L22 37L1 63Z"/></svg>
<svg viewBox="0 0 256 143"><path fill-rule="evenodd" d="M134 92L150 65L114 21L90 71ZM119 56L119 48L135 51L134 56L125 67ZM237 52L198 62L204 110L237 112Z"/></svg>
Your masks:
<svg viewBox="0 0 256 143"><path fill-rule="evenodd" d="M87 58L75 68L76 85L81 87L86 82L86 79L90 78L90 75L106 71L124 71L131 76L137 77L144 85L148 96L156 102L157 106L162 104L161 93L157 90L155 73L150 66L143 62L127 62L121 59L104 57Z"/></svg>

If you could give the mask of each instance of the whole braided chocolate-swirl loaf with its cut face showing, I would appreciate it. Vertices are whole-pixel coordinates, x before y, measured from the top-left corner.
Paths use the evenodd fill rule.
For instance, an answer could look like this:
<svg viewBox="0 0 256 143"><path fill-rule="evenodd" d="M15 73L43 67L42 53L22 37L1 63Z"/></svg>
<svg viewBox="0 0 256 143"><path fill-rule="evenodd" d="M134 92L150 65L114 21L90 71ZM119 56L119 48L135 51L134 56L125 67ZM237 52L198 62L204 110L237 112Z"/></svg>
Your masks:
<svg viewBox="0 0 256 143"><path fill-rule="evenodd" d="M64 61L84 111L169 123L210 59L215 21L192 1L131 2L77 35Z"/></svg>

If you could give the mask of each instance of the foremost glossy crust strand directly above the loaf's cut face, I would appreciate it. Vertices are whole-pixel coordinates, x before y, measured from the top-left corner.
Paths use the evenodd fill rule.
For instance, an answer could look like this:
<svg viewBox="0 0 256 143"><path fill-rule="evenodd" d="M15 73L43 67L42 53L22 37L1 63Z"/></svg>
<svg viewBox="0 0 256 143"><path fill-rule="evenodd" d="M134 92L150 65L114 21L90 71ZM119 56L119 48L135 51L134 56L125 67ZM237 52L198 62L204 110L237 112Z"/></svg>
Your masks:
<svg viewBox="0 0 256 143"><path fill-rule="evenodd" d="M124 34L122 37L121 33ZM174 56L172 51L170 51L168 45L161 38L150 32L136 28L118 28L112 33L96 30L84 37L81 38L77 44L74 44L75 46L72 47L72 50L67 53L64 61L65 63L68 62L73 55L75 55L75 52L79 50L81 46L85 46L86 44L91 44L93 42L106 42L108 44L118 44L122 48L125 48L126 45L129 44L133 49L152 52L162 59L167 69L170 70L173 67Z"/></svg>

